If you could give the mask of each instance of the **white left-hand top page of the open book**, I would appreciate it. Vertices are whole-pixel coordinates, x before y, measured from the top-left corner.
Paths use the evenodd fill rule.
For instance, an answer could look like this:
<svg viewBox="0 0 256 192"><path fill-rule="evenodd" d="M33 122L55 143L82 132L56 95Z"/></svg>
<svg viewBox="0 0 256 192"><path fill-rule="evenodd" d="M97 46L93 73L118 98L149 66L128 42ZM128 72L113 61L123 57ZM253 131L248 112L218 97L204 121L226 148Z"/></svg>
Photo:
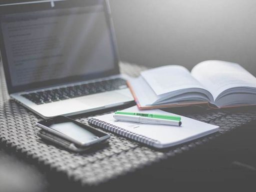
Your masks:
<svg viewBox="0 0 256 192"><path fill-rule="evenodd" d="M203 88L183 66L167 65L148 69L140 73L156 95L184 88Z"/></svg>

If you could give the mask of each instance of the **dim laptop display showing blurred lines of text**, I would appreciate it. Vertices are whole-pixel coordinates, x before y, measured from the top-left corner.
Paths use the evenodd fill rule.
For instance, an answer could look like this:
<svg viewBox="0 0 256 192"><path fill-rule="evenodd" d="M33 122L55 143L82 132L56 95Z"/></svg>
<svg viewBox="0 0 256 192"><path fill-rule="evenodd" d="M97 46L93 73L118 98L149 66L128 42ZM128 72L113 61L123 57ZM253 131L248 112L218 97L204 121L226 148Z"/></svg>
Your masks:
<svg viewBox="0 0 256 192"><path fill-rule="evenodd" d="M103 3L6 13L0 24L12 87L96 78L116 67Z"/></svg>

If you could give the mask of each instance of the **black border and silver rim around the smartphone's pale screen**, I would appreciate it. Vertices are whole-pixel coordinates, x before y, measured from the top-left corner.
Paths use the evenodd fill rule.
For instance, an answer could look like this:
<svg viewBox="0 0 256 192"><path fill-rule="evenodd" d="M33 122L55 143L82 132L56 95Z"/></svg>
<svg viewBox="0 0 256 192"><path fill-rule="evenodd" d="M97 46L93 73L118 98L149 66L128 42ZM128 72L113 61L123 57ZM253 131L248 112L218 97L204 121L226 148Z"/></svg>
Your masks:
<svg viewBox="0 0 256 192"><path fill-rule="evenodd" d="M62 132L59 132L51 127L49 127L51 124L55 124L55 123L61 123L61 122L73 122L81 127L83 127L84 129L87 129L89 131L91 131L92 133L98 135L99 137L97 139L93 139L91 141L88 141L88 142L80 142L66 134L63 134ZM46 120L41 120L39 122L36 123L36 126L42 128L44 131L48 132L48 133L51 133L51 134L54 134L54 135L57 135L63 139L66 139L68 141L71 141L73 142L74 144L77 144L78 146L90 146L92 144L96 144L96 143L99 143L103 140L106 140L110 137L110 135L106 132L103 132L101 130L97 130L95 128L92 128L86 124L83 124L81 122L78 122L76 120L73 120L69 117L66 117L66 116L55 116L53 118L50 118L50 119L46 119Z"/></svg>

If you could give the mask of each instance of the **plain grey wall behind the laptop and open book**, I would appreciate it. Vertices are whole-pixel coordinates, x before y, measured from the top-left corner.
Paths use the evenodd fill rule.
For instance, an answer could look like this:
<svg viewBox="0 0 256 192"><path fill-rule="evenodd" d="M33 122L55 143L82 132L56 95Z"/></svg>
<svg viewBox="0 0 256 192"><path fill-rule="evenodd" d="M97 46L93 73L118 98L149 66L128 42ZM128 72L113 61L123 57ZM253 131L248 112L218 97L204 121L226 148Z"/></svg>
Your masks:
<svg viewBox="0 0 256 192"><path fill-rule="evenodd" d="M121 60L191 69L207 59L256 75L255 0L110 0Z"/></svg>

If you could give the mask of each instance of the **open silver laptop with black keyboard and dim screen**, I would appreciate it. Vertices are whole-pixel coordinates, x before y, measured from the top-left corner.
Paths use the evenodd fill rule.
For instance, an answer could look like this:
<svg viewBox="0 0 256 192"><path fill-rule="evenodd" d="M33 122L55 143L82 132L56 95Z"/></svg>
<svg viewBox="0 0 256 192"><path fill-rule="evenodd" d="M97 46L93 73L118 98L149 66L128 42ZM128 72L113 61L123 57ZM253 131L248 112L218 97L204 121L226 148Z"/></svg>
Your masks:
<svg viewBox="0 0 256 192"><path fill-rule="evenodd" d="M0 5L0 50L8 93L43 118L133 100L119 72L107 0Z"/></svg>

